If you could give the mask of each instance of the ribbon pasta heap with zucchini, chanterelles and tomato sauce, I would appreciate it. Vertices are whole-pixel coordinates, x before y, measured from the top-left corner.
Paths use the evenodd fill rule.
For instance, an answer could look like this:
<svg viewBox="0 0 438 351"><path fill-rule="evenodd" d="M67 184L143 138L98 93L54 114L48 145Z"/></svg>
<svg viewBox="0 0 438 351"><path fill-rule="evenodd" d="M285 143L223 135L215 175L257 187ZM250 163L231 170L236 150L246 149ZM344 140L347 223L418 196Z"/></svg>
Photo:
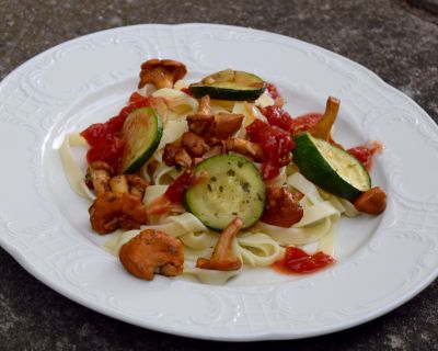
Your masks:
<svg viewBox="0 0 438 351"><path fill-rule="evenodd" d="M182 63L146 61L126 106L60 148L71 188L90 201L91 228L128 272L207 284L245 267L312 273L335 262L342 216L384 211L368 172L382 146L333 139L339 100L292 117L253 73L226 69L192 83L185 75ZM87 170L73 148L87 151Z"/></svg>

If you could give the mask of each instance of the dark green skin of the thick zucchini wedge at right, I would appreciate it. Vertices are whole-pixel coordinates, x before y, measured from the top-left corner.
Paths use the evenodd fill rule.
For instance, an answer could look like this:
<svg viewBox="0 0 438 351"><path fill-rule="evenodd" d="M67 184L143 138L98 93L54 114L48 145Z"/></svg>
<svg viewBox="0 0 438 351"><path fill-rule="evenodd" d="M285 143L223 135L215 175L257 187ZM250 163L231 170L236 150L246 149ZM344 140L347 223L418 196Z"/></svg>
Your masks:
<svg viewBox="0 0 438 351"><path fill-rule="evenodd" d="M312 183L331 194L347 200L355 200L364 192L344 180L336 170L328 165L312 141L309 133L303 133L297 136L293 140L296 143L296 148L292 151L292 161L298 166L300 172ZM348 154L334 145L331 145L331 147L337 150L337 152ZM368 172L359 160L357 160L353 155L349 156L364 169L364 173L367 174L367 180L365 181L368 183L368 189L370 189L371 179Z"/></svg>

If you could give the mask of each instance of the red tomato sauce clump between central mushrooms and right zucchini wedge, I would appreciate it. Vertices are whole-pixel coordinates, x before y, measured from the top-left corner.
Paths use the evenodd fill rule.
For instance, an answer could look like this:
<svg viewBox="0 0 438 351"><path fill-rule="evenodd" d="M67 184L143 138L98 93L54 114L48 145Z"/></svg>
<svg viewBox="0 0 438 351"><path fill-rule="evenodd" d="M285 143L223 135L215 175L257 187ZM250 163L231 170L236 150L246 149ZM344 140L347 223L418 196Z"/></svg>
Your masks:
<svg viewBox="0 0 438 351"><path fill-rule="evenodd" d="M277 177L280 167L289 163L295 143L289 133L277 126L255 120L246 127L251 141L263 147L262 174L268 180Z"/></svg>

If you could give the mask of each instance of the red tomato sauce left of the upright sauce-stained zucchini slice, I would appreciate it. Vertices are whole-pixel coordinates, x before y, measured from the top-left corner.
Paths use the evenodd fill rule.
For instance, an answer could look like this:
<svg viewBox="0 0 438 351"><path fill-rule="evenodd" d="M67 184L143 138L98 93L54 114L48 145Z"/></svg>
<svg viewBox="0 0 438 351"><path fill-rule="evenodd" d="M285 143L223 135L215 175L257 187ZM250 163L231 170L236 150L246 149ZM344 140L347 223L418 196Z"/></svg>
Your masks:
<svg viewBox="0 0 438 351"><path fill-rule="evenodd" d="M130 95L128 105L122 109L118 115L105 123L94 123L82 131L81 136L90 145L87 152L88 162L104 161L118 173L122 168L125 147L125 140L122 137L125 120L134 110L149 105L150 100L148 98L135 92Z"/></svg>

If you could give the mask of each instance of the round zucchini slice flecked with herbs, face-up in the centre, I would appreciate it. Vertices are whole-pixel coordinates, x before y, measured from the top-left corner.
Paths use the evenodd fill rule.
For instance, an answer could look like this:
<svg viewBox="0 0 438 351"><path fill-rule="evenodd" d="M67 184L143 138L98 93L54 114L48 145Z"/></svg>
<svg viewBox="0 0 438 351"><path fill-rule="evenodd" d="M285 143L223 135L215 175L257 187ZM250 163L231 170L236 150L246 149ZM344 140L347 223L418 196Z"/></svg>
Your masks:
<svg viewBox="0 0 438 351"><path fill-rule="evenodd" d="M195 174L207 172L207 180L189 188L184 203L200 222L222 230L235 217L243 227L255 224L265 207L266 190L253 162L238 155L217 155L196 166Z"/></svg>

